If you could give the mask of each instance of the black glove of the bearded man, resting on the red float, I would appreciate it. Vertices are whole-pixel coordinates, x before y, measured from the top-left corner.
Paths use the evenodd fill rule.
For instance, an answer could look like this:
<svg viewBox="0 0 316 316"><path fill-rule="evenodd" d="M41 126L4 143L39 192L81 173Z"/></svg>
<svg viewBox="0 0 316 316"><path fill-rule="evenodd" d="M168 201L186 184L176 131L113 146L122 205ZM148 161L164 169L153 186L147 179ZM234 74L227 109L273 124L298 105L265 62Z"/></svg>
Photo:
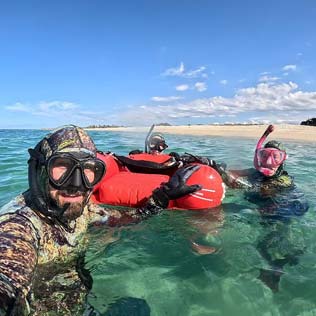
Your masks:
<svg viewBox="0 0 316 316"><path fill-rule="evenodd" d="M166 208L170 200L175 200L187 194L201 190L199 184L187 185L190 176L200 169L198 165L188 165L178 169L170 178L169 182L163 183L160 188L153 191L152 198L158 206Z"/></svg>

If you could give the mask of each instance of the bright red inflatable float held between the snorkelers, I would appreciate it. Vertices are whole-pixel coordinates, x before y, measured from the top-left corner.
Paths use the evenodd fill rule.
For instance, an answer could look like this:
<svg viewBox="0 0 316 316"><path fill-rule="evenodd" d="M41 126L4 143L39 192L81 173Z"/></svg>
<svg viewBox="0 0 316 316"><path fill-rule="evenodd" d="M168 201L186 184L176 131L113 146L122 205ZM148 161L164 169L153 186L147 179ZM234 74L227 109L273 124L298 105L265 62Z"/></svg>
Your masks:
<svg viewBox="0 0 316 316"><path fill-rule="evenodd" d="M93 202L128 207L141 206L154 189L161 183L168 182L170 175L178 168L178 163L169 155L135 156L136 158L133 155L122 157L98 154L98 158L106 164L106 174L94 188ZM221 176L213 168L201 165L187 183L200 184L202 189L170 201L168 208L202 210L221 204L225 188Z"/></svg>

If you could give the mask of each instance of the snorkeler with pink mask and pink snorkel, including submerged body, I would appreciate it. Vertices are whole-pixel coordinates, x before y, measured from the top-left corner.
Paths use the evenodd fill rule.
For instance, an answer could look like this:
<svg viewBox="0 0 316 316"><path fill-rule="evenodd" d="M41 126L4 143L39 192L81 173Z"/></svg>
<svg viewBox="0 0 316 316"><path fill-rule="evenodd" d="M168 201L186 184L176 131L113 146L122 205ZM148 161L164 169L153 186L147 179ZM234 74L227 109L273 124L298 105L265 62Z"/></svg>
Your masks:
<svg viewBox="0 0 316 316"><path fill-rule="evenodd" d="M304 248L302 241L293 239L290 219L305 214L308 203L284 170L287 154L283 144L271 140L263 146L273 130L273 125L268 126L257 143L255 168L227 171L220 167L219 171L226 185L243 189L245 198L258 207L265 234L257 250L268 263L267 268L260 269L259 279L278 291L283 267L297 264Z"/></svg>

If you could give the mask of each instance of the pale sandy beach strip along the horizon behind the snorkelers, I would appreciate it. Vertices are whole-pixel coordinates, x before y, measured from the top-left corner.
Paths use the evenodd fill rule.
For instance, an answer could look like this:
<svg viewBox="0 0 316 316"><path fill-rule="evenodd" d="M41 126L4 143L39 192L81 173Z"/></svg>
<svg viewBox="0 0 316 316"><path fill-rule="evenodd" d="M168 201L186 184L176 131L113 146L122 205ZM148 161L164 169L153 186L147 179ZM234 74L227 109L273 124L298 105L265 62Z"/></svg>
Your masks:
<svg viewBox="0 0 316 316"><path fill-rule="evenodd" d="M183 134L183 135L205 135L205 136L222 136L222 137L247 137L258 138L262 135L268 125L183 125L183 126L156 126L155 132L165 134ZM316 126L274 125L274 139L283 139L287 141L306 141L316 142ZM123 131L123 132L144 132L149 127L109 127L95 128L92 130L104 131Z"/></svg>

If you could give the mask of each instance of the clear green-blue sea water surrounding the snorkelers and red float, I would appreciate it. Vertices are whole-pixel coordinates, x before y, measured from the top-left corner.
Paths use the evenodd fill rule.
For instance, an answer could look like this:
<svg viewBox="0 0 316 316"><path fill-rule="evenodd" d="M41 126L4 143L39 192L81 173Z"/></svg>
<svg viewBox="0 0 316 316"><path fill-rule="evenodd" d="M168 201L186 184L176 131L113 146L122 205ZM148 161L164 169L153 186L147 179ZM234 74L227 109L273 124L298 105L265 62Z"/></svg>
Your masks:
<svg viewBox="0 0 316 316"><path fill-rule="evenodd" d="M146 136L89 133L100 150L118 154L143 149ZM27 149L45 134L0 130L0 206L27 189ZM205 155L229 168L252 166L254 139L166 139L170 151ZM128 227L92 227L86 256L94 279L89 302L101 314L120 298L139 298L139 310L149 307L154 316L316 315L316 140L284 143L289 155L286 170L309 203L304 216L271 228L262 224L256 204L242 192L228 190L216 214L166 211ZM198 254L192 241L213 247L214 253ZM262 241L277 258L286 256L288 249L298 254L284 266L276 292L258 278L260 270L275 269L260 250Z"/></svg>

